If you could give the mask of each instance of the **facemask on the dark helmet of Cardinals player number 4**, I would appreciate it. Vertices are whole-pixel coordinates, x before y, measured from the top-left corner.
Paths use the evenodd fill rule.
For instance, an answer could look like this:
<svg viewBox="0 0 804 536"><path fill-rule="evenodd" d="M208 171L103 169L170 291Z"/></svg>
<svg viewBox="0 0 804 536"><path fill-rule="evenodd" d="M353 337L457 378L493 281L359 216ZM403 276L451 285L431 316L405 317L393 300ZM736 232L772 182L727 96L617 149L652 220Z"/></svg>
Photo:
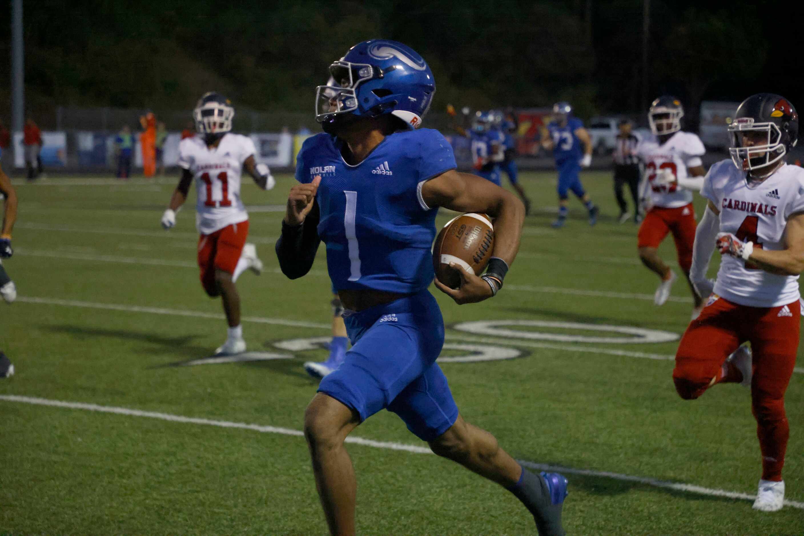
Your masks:
<svg viewBox="0 0 804 536"><path fill-rule="evenodd" d="M787 153L781 130L775 123L755 123L753 117L740 117L728 125L728 133L732 137L728 153L740 170L753 171L773 166ZM744 146L745 133L764 133L764 143Z"/></svg>

